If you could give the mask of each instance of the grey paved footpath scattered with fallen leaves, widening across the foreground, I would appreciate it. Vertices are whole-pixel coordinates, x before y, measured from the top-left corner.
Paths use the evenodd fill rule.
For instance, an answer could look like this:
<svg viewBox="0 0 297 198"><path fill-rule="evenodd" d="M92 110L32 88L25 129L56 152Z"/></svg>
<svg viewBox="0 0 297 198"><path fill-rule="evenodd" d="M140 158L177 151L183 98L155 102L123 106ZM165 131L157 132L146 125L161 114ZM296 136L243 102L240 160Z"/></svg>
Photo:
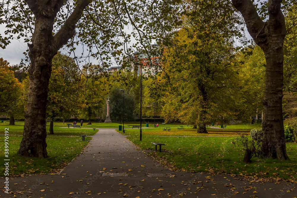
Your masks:
<svg viewBox="0 0 297 198"><path fill-rule="evenodd" d="M99 129L83 154L60 174L10 178L9 187L15 194L4 193L4 179L0 180L1 197L297 196L297 185L292 183L170 171L114 129Z"/></svg>

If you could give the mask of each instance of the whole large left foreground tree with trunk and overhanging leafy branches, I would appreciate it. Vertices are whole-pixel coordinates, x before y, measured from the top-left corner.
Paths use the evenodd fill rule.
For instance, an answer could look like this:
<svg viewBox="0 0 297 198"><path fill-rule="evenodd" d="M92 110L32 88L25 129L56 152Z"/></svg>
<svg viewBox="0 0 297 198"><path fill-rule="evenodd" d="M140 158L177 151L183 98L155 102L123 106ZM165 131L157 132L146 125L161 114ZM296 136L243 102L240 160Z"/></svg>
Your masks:
<svg viewBox="0 0 297 198"><path fill-rule="evenodd" d="M96 57L101 66L107 67L113 60L120 62L122 51L133 53L128 46L130 34L124 31L128 24L132 25L132 35L138 35L143 47L150 46L152 39L172 29L170 23L164 22L165 17L156 15L161 13L166 19L172 19L174 13L162 12L164 9L169 10L170 4L153 0L2 1L0 24L6 24L7 29L4 36L0 35L0 47L4 49L10 40L20 37L29 43L29 57L25 59L30 59L29 93L18 154L40 158L48 156L45 129L48 83L53 56L62 46L67 44L67 48L75 52L74 45L82 44L85 53L81 58L87 61L89 56ZM158 27L162 27L162 31ZM121 45L123 48L119 49Z"/></svg>

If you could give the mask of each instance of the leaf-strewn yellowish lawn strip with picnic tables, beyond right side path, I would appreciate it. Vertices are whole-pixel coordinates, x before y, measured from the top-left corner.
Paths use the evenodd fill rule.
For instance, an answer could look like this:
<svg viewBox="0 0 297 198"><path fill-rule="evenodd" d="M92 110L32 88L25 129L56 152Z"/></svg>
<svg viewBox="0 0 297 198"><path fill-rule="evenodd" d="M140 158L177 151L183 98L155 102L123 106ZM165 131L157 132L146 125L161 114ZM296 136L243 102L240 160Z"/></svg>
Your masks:
<svg viewBox="0 0 297 198"><path fill-rule="evenodd" d="M207 129L208 133L197 133L197 129L185 128L177 129L171 128L170 131L163 131L163 128L144 128L141 130L142 136L238 136L238 133L247 133L249 131L243 130L225 130L225 129ZM116 130L122 135L138 136L139 129L126 129L125 134L123 131Z"/></svg>

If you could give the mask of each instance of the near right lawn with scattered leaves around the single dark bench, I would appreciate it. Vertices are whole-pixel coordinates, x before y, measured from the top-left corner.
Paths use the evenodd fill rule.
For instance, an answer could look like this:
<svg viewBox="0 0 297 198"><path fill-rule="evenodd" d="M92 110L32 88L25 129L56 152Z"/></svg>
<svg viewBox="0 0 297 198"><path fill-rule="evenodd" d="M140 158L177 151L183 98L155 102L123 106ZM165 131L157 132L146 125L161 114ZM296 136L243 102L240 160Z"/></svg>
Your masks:
<svg viewBox="0 0 297 198"><path fill-rule="evenodd" d="M287 143L290 161L252 158L245 164L244 149L235 143L236 137L154 137L127 136L143 150L155 150L151 142L166 144L166 152L151 152L149 155L173 170L207 172L213 174L234 174L257 177L293 179L297 181L297 145ZM158 146L159 147L159 146Z"/></svg>

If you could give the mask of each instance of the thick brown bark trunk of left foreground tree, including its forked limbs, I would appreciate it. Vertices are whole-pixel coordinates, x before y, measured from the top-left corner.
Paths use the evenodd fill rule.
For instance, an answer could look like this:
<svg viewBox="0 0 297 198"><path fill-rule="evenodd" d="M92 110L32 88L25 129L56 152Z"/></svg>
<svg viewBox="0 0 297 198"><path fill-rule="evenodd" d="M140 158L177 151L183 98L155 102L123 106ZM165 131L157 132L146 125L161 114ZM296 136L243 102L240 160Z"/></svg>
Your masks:
<svg viewBox="0 0 297 198"><path fill-rule="evenodd" d="M28 70L29 91L23 139L18 154L46 158L48 154L45 141L45 114L52 59L57 51L74 36L75 24L90 1L76 1L76 8L55 36L52 34L53 22L64 1L26 0L26 2L34 13L36 21L32 43L28 44L31 60Z"/></svg>

